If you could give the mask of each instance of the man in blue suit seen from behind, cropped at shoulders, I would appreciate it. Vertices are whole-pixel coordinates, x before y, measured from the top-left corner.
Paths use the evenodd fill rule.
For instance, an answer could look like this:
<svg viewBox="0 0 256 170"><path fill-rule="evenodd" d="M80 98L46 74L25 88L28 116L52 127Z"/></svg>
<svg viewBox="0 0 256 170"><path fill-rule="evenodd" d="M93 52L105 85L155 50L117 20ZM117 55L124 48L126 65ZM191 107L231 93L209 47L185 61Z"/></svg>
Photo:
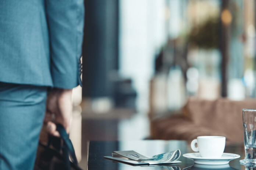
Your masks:
<svg viewBox="0 0 256 170"><path fill-rule="evenodd" d="M68 131L83 15L83 0L0 0L1 170L33 169L45 111Z"/></svg>

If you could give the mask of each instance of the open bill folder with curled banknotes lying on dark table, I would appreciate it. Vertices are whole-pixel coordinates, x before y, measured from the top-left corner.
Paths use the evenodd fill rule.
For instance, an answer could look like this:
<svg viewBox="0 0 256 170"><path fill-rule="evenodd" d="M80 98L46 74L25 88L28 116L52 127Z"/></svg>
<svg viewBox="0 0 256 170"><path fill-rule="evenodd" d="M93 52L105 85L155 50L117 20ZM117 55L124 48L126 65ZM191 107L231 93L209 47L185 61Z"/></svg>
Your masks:
<svg viewBox="0 0 256 170"><path fill-rule="evenodd" d="M178 160L180 155L181 151L179 149L152 157L141 155L135 151L114 151L112 152L112 156L104 156L104 158L131 165L157 165L181 163Z"/></svg>

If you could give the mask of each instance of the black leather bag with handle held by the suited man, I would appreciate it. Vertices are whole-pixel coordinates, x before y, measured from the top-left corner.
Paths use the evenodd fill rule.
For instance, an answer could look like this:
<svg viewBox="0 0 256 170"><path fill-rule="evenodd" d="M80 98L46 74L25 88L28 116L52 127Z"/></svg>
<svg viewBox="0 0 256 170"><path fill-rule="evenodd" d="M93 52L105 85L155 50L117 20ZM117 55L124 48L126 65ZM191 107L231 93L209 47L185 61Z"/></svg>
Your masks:
<svg viewBox="0 0 256 170"><path fill-rule="evenodd" d="M82 170L67 132L62 125L56 126L60 138L49 135L47 144L39 142L34 170Z"/></svg>

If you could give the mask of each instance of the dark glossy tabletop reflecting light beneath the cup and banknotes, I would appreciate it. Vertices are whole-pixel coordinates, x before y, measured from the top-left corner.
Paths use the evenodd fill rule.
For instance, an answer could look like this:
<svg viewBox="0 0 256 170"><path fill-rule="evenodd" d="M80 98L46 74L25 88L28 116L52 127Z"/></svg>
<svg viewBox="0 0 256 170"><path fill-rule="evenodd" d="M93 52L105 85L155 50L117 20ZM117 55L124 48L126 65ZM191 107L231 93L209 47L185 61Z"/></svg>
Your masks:
<svg viewBox="0 0 256 170"><path fill-rule="evenodd" d="M90 141L88 170L182 170L184 168L190 170L256 170L256 168L245 168L243 165L239 164L239 160L244 158L243 144L226 144L224 152L239 154L241 156L241 158L231 160L229 165L194 165L192 160L184 158L183 156L179 158L182 162L181 164L154 166L131 166L103 158L103 156L111 156L112 151L134 150L142 155L152 156L175 149L180 149L181 155L193 152L190 148L190 143L179 140Z"/></svg>

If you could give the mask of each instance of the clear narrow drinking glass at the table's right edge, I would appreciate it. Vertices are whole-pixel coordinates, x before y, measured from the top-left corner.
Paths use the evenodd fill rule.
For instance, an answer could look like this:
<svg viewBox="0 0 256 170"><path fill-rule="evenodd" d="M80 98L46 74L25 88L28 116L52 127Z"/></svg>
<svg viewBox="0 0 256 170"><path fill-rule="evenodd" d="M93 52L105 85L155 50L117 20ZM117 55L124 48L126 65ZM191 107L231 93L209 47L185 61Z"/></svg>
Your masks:
<svg viewBox="0 0 256 170"><path fill-rule="evenodd" d="M256 165L256 110L243 109L243 139L245 143L245 159L243 165Z"/></svg>

